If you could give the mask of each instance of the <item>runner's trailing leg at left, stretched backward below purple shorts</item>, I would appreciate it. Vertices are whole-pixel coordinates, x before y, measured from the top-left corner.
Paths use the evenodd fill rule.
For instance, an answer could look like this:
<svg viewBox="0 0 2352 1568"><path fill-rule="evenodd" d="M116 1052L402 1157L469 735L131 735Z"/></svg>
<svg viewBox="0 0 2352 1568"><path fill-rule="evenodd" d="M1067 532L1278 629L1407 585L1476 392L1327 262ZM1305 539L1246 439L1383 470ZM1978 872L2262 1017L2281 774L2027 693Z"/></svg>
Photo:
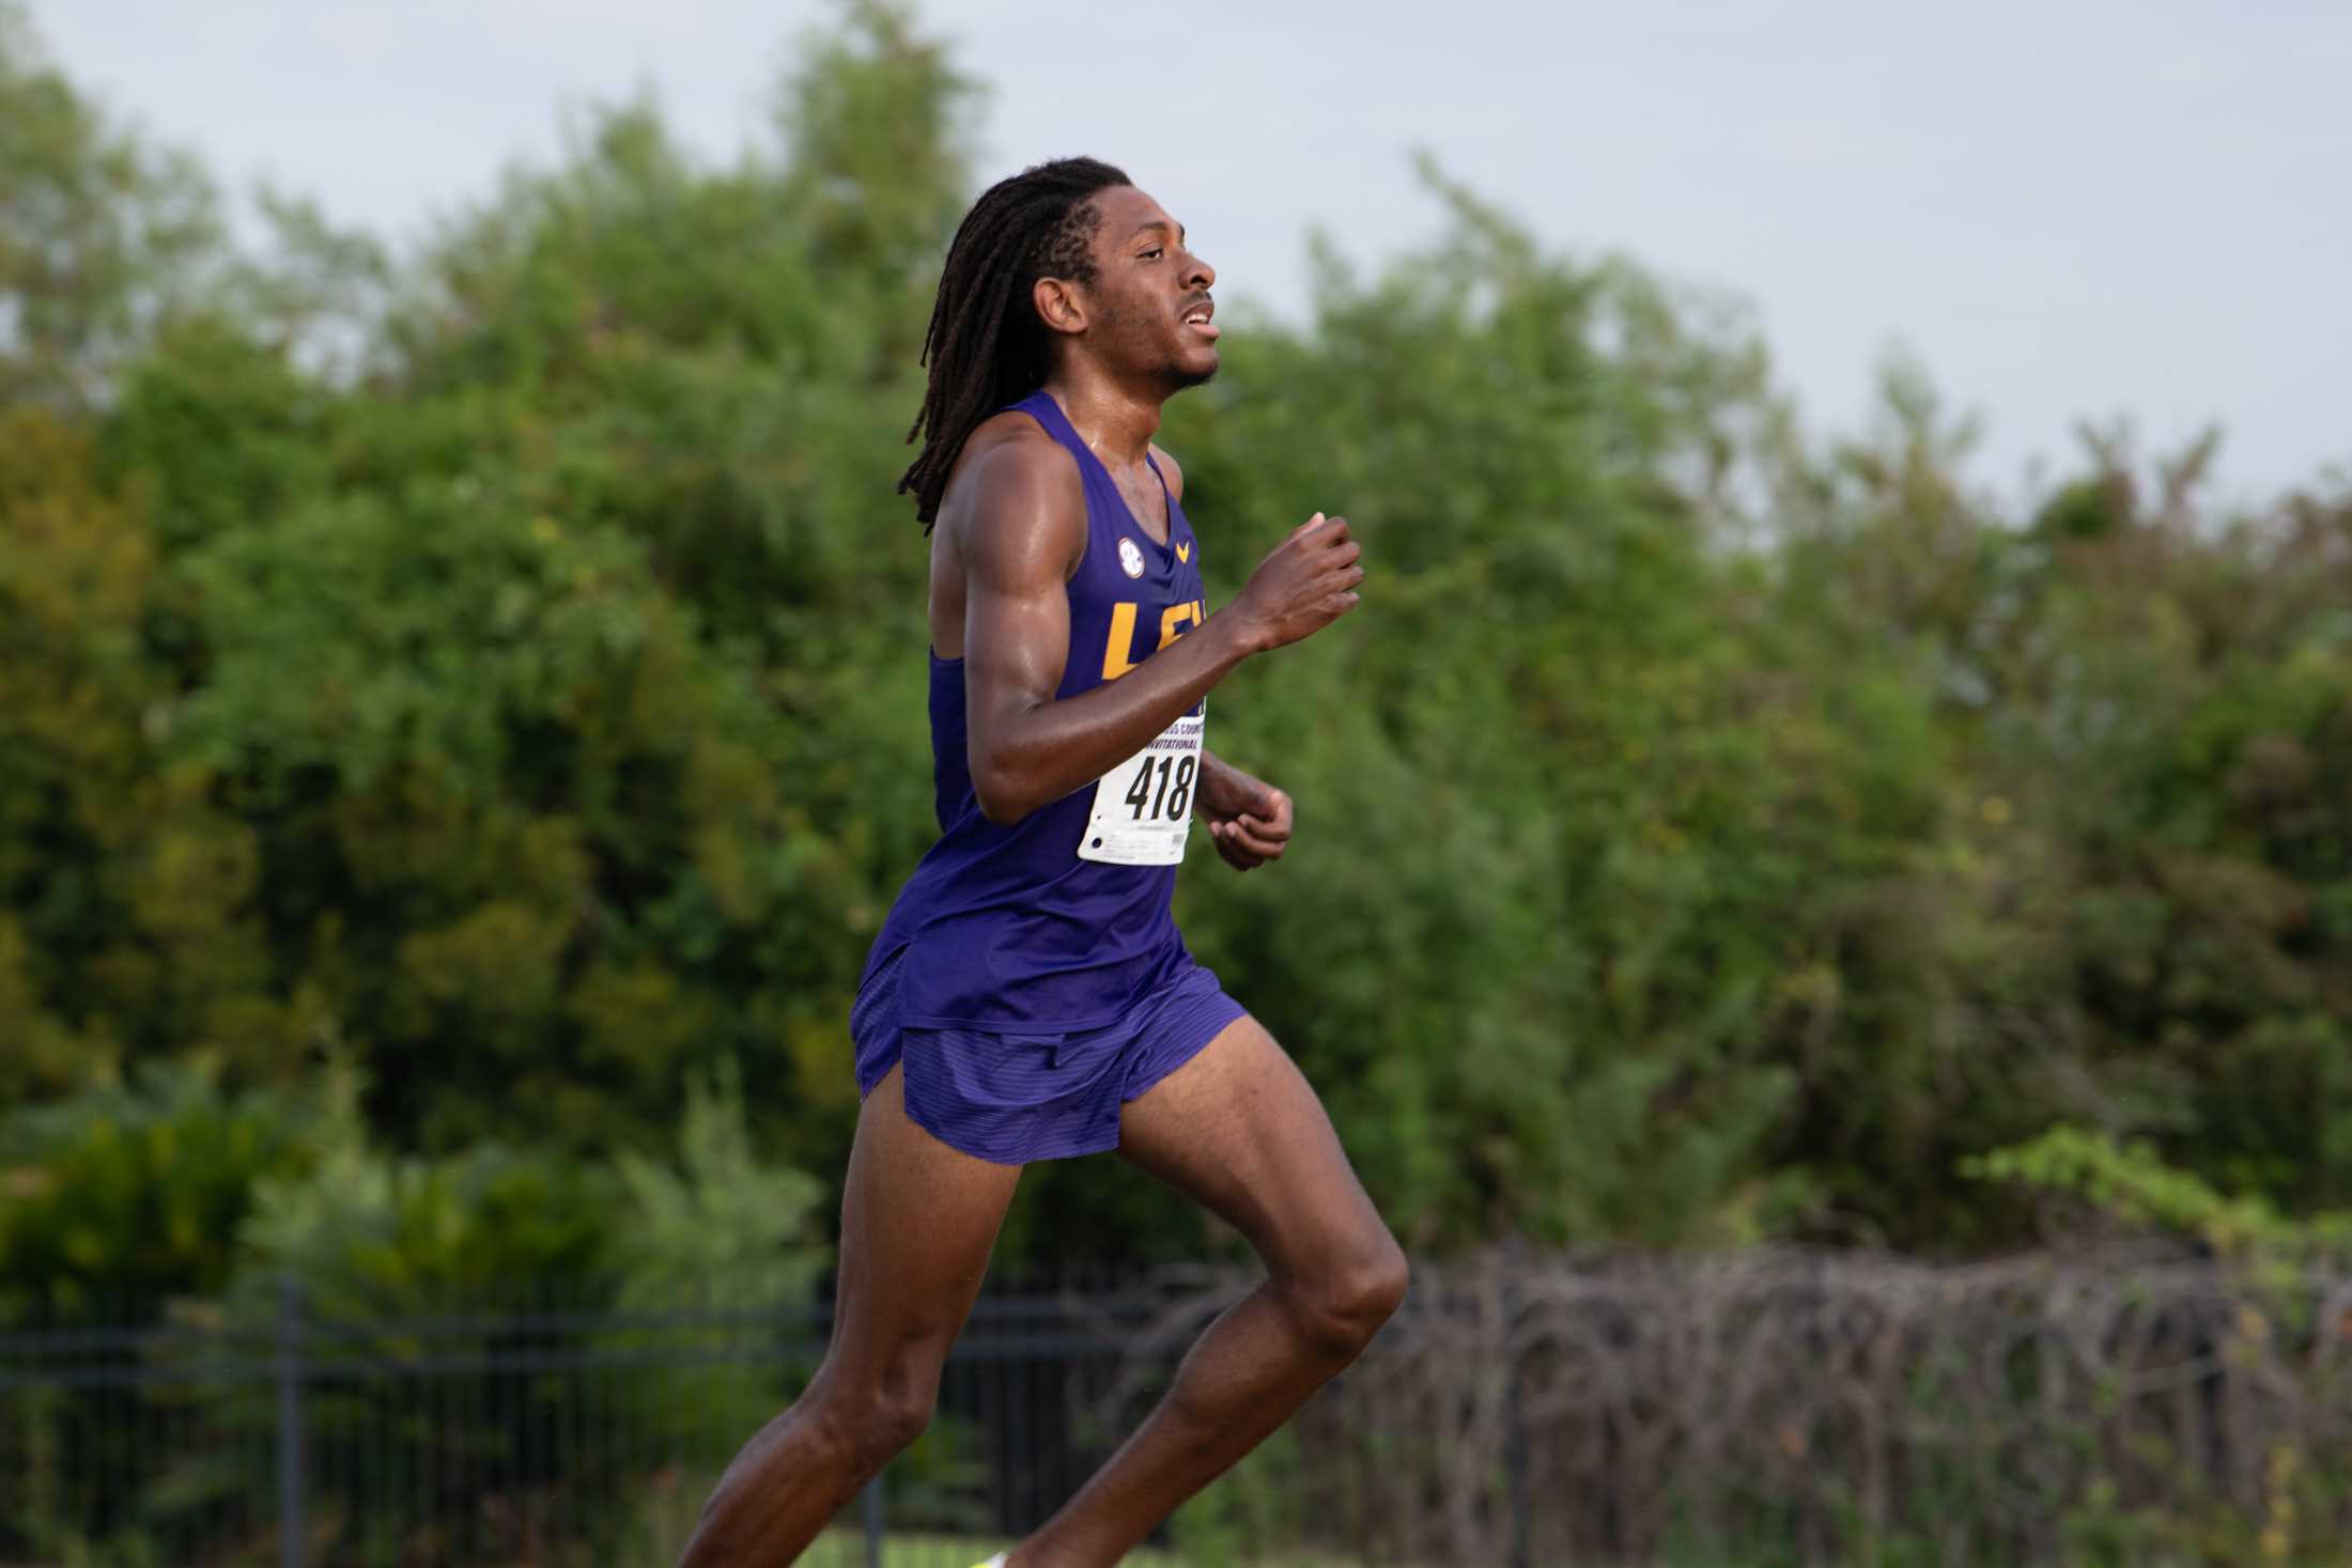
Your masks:
<svg viewBox="0 0 2352 1568"><path fill-rule="evenodd" d="M866 1095L826 1363L720 1476L680 1568L790 1563L915 1441L1018 1180L915 1126L898 1067Z"/></svg>

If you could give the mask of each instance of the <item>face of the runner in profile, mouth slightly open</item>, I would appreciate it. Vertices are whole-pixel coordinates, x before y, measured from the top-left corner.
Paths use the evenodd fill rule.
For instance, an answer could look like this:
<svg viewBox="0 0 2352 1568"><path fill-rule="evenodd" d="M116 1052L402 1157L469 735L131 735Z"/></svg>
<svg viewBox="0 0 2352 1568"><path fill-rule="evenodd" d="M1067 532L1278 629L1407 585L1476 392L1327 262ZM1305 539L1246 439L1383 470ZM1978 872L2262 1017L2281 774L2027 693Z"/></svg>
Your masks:
<svg viewBox="0 0 2352 1568"><path fill-rule="evenodd" d="M1167 390L1216 374L1216 268L1185 249L1183 226L1134 186L1094 197L1094 348L1117 369L1152 376Z"/></svg>

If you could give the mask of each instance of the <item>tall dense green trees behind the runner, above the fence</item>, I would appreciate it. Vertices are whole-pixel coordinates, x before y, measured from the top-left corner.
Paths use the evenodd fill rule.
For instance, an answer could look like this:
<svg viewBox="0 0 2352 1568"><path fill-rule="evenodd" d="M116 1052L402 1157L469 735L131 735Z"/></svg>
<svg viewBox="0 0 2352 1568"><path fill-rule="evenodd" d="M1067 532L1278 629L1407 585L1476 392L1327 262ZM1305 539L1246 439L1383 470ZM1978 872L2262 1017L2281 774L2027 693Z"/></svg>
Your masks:
<svg viewBox="0 0 2352 1568"><path fill-rule="evenodd" d="M630 103L409 254L285 197L245 254L0 7L26 1128L202 1065L221 1152L179 1201L282 1192L315 1154L238 1143L238 1095L348 1060L390 1164L315 1199L346 1232L522 1194L550 1255L614 1185L654 1201L710 1072L762 1159L840 1171L851 985L934 830L891 484L969 108L854 5L727 167ZM1376 571L1218 693L1301 839L1197 853L1178 912L1406 1241L1976 1251L2034 1208L1962 1161L2053 1126L2352 1204L2352 496L2216 515L2206 451L2100 435L2002 505L1903 367L1820 447L1736 306L1428 186L1437 247L1327 261L1303 322L1228 310L1164 430L1211 590L1317 508ZM193 1157L132 1131L125 1173ZM12 1279L66 1246L49 1147L99 1145L12 1135ZM252 1255L313 1246L296 1213ZM1209 1241L1101 1161L1007 1237Z"/></svg>

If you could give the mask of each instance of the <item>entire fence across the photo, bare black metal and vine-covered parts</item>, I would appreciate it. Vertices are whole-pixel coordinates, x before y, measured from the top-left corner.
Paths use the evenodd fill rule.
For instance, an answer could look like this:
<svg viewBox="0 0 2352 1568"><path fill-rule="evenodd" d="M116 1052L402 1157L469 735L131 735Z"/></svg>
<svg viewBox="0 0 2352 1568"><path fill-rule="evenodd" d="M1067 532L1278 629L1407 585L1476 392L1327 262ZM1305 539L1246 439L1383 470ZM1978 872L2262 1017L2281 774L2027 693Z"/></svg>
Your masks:
<svg viewBox="0 0 2352 1568"><path fill-rule="evenodd" d="M993 1288L816 1568L969 1568L1251 1274ZM659 1568L821 1307L275 1302L0 1333L0 1568ZM2340 1568L2352 1276L2178 1255L1423 1265L1134 1568Z"/></svg>

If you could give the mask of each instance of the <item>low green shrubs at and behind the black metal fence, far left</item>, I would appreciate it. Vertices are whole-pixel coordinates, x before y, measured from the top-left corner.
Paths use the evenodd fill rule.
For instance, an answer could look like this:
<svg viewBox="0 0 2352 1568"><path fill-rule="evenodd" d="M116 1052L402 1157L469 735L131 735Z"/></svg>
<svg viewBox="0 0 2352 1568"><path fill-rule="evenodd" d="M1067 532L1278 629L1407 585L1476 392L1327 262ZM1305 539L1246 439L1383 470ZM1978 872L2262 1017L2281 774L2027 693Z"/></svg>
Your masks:
<svg viewBox="0 0 2352 1568"><path fill-rule="evenodd" d="M108 1331L172 1319L75 1352L136 1382L66 1389L33 1368L0 1429L0 1549L169 1554L219 1519L266 1537L280 1410L254 1368L289 1326L315 1544L334 1561L445 1561L452 1530L485 1521L593 1540L654 1472L715 1467L781 1406L797 1373L776 1373L774 1342L826 1267L821 1187L753 1152L734 1074L689 1084L675 1164L397 1157L367 1138L362 1088L348 1065L303 1103L153 1072L0 1128L19 1305ZM26 1281L59 1260L35 1295ZM122 1291L158 1298L106 1312ZM223 1363L245 1371L221 1382ZM416 1497L426 1535L383 1507Z"/></svg>

